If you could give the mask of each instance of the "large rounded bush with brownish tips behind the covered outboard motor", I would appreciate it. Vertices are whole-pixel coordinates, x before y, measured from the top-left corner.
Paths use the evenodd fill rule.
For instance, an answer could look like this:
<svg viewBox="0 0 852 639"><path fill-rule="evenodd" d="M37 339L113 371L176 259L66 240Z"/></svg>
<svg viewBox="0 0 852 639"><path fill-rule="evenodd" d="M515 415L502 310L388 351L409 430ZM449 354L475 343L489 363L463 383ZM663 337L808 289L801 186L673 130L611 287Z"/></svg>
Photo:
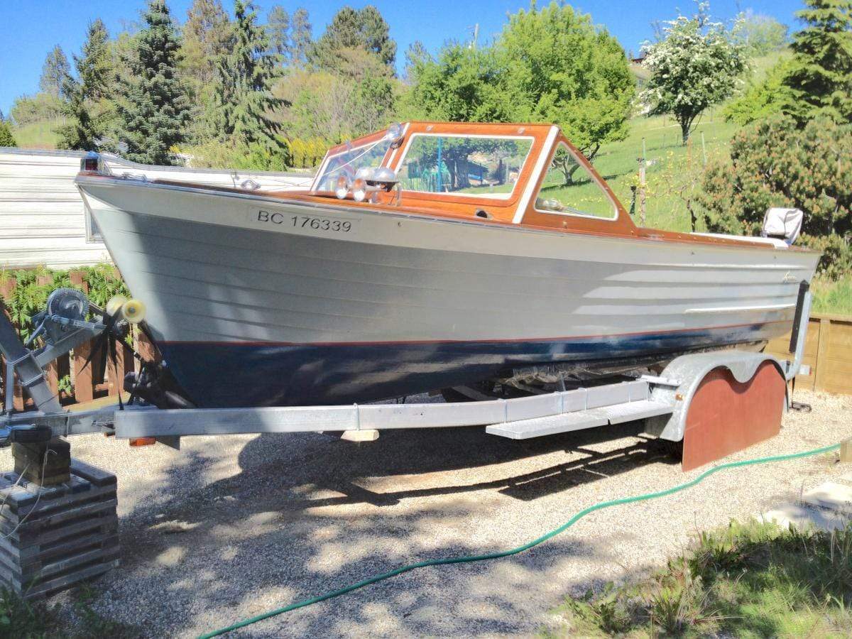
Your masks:
<svg viewBox="0 0 852 639"><path fill-rule="evenodd" d="M852 125L820 118L798 130L777 116L740 130L730 162L708 166L699 210L715 233L757 233L770 206L804 211L814 236L852 232Z"/></svg>

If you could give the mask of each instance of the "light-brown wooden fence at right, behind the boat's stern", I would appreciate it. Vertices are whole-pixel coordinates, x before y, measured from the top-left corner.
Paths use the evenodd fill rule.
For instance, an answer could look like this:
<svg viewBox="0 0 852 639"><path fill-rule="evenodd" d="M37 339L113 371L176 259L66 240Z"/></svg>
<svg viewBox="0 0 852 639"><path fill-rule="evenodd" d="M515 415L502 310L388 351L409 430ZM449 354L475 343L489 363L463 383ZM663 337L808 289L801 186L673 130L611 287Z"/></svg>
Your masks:
<svg viewBox="0 0 852 639"><path fill-rule="evenodd" d="M790 336L769 342L767 351L789 359ZM798 388L852 394L852 317L814 313L808 323L803 364L808 375L798 375Z"/></svg>

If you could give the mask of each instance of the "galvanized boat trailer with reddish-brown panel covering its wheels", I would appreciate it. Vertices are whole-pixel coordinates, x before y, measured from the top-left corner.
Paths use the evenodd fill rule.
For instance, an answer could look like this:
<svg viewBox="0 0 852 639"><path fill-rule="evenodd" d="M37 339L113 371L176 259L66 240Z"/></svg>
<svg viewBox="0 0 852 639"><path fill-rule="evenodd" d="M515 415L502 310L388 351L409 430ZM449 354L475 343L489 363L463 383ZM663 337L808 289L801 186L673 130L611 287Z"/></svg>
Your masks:
<svg viewBox="0 0 852 639"><path fill-rule="evenodd" d="M521 440L644 420L645 432L683 443L682 465L693 469L776 435L790 406L787 382L802 367L811 294L800 285L790 352L793 360L769 354L722 350L684 354L659 376L605 383L515 399L451 403L371 403L346 406L162 409L150 405L63 410L44 377L44 366L114 325L117 311L90 309L89 302L60 289L37 319L44 346L21 343L0 314L0 350L30 394L36 410L0 416L0 445L44 443L56 437L101 432L117 438L155 438L179 447L190 435L342 432L343 439L375 440L383 429L485 426L486 433ZM31 339L32 342L32 339ZM11 384L6 384L7 389Z"/></svg>

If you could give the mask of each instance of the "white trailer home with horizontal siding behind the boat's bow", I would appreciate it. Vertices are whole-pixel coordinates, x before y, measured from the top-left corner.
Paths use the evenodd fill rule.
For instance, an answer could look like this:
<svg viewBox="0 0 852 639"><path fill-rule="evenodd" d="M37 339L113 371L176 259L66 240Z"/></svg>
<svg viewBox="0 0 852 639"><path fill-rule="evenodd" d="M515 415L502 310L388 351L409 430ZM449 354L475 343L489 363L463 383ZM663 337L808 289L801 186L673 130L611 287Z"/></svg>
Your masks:
<svg viewBox="0 0 852 639"><path fill-rule="evenodd" d="M84 156L78 151L0 147L0 270L74 268L110 261L74 186ZM115 175L144 175L150 180L260 190L308 186L313 180L308 173L189 169L135 164L107 154L101 158Z"/></svg>

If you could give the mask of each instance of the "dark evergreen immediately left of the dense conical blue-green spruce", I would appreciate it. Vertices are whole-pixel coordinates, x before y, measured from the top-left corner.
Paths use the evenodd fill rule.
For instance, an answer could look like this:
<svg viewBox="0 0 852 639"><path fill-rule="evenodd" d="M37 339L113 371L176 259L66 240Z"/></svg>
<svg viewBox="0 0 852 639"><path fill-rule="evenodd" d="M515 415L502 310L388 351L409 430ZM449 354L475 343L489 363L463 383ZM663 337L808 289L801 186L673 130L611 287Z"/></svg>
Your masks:
<svg viewBox="0 0 852 639"><path fill-rule="evenodd" d="M74 56L77 78L62 83L62 112L67 124L57 129L57 147L83 151L111 150L115 107L113 60L107 27L98 19L89 23L81 55Z"/></svg>

